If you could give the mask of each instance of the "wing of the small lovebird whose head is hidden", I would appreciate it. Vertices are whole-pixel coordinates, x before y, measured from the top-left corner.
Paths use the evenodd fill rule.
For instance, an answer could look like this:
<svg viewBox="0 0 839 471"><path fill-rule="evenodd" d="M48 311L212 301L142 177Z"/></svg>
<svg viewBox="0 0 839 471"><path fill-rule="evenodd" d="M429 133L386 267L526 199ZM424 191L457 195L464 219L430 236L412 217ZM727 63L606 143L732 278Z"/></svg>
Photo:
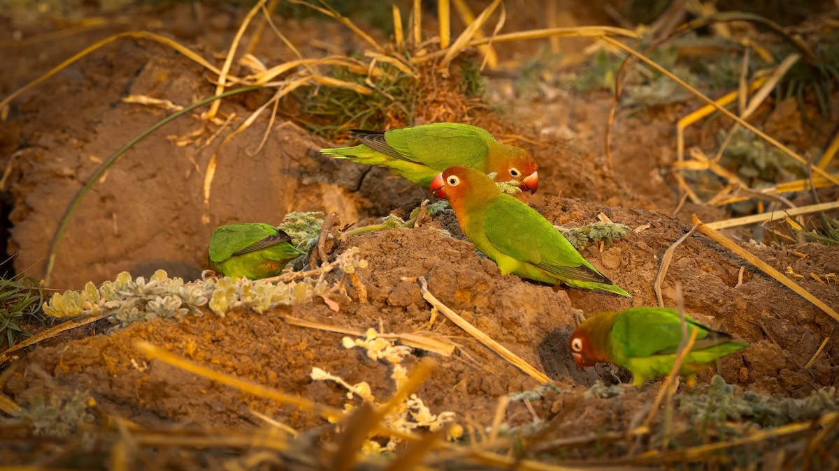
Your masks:
<svg viewBox="0 0 839 471"><path fill-rule="evenodd" d="M210 237L210 260L220 263L231 256L258 251L290 240L288 234L267 224L221 225L213 230Z"/></svg>

